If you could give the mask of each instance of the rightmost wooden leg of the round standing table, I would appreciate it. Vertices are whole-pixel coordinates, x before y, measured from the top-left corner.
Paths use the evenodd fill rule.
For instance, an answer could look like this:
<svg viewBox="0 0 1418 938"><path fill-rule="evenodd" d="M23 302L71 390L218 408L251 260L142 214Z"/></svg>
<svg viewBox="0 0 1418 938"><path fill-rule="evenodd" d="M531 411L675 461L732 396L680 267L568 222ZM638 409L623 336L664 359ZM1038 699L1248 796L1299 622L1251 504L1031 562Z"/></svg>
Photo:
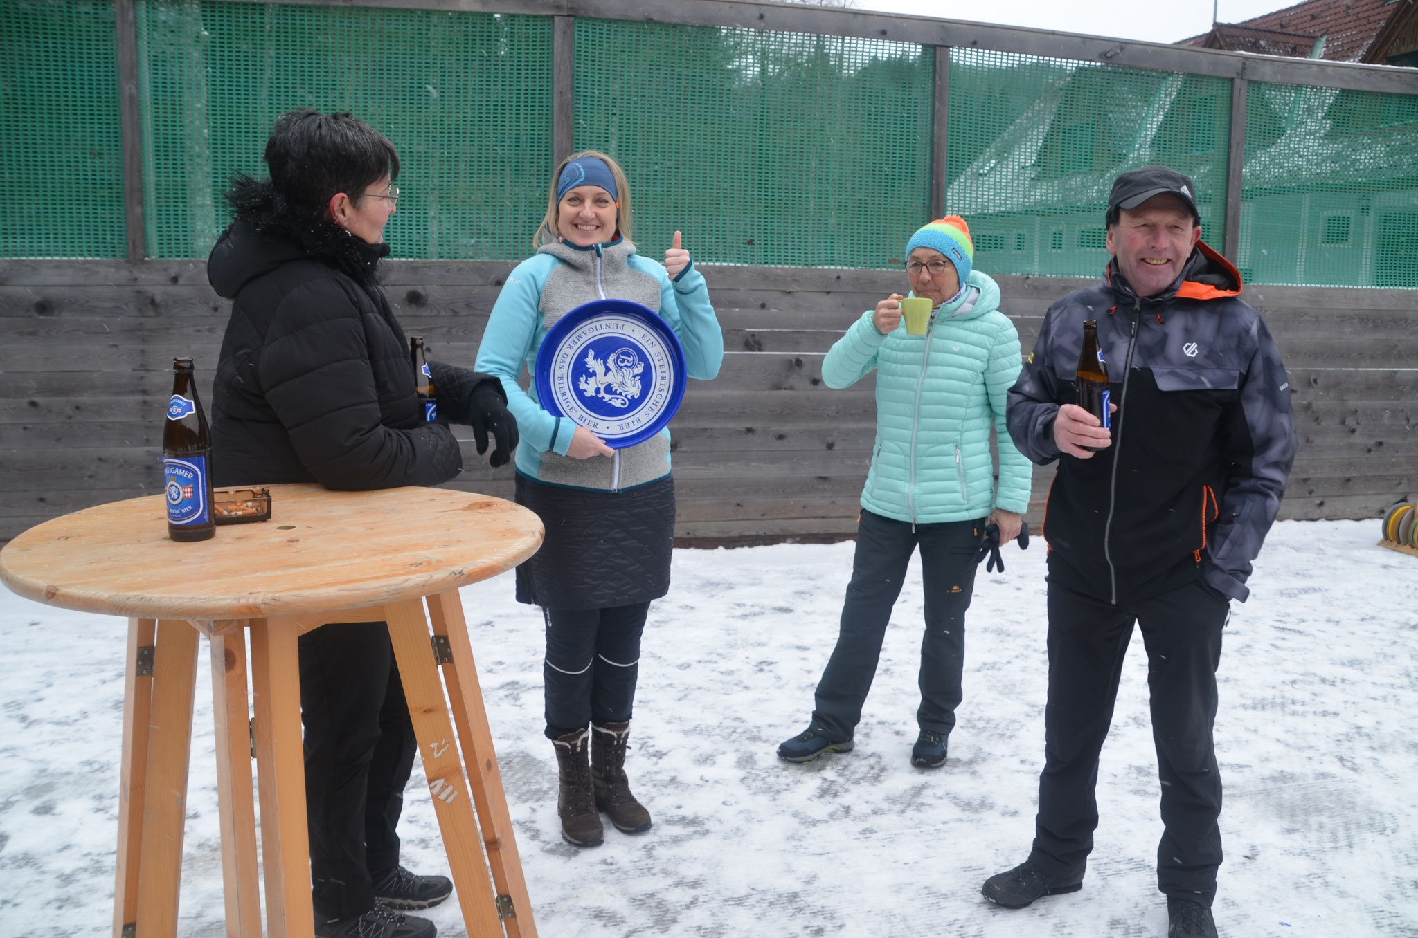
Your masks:
<svg viewBox="0 0 1418 938"><path fill-rule="evenodd" d="M458 591L428 597L428 616L434 623L434 635L447 636L452 650L452 665L448 666L451 674L447 680L448 701L458 724L462 758L469 768L468 782L472 786L472 802L478 808L492 881L498 893L512 901L512 917L503 922L508 938L536 938L532 900L522 874L518 840L512 832L512 812L508 810L508 796L502 789L502 769L492 745L492 728L488 725L488 710L482 701Z"/></svg>

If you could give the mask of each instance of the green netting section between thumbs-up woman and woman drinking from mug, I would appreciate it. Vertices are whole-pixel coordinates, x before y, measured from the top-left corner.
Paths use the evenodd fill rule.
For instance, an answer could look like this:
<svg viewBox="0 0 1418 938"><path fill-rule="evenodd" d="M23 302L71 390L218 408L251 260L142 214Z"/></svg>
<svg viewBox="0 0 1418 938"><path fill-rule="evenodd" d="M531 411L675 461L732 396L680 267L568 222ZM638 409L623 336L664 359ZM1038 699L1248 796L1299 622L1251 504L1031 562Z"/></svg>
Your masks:
<svg viewBox="0 0 1418 938"><path fill-rule="evenodd" d="M576 21L576 146L615 156L635 239L719 264L881 268L927 221L934 50Z"/></svg>

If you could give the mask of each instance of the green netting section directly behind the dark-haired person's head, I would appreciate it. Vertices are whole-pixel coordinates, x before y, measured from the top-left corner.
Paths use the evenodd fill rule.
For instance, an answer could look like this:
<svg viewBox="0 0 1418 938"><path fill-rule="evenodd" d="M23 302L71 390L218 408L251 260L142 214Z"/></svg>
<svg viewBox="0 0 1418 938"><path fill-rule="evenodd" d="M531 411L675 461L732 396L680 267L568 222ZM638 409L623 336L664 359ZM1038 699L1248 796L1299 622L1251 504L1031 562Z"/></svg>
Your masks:
<svg viewBox="0 0 1418 938"><path fill-rule="evenodd" d="M149 254L204 256L275 119L349 111L398 147L394 256L510 259L552 160L552 20L139 0Z"/></svg>

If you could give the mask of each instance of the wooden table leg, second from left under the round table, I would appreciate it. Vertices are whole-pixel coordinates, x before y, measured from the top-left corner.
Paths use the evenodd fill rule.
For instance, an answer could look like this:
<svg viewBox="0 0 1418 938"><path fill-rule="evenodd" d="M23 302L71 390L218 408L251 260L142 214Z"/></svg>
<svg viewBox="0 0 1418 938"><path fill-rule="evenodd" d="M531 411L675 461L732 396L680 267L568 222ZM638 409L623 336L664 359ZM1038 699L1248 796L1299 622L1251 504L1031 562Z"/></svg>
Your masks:
<svg viewBox="0 0 1418 938"><path fill-rule="evenodd" d="M147 714L147 776L143 784L143 842L138 860L136 934L174 938L182 839L187 820L187 764L191 701L197 690L197 629L184 619L159 619L153 652L153 696Z"/></svg>

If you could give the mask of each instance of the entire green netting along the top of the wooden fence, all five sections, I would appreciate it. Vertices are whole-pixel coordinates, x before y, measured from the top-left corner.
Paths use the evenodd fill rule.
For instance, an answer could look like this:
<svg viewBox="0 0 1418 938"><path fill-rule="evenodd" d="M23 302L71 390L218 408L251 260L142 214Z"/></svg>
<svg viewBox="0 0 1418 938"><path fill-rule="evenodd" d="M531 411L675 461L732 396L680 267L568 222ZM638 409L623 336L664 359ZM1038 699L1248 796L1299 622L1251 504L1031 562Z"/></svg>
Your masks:
<svg viewBox="0 0 1418 938"><path fill-rule="evenodd" d="M136 0L145 231L204 256L281 113L350 111L398 146L396 256L525 256L553 166L549 16ZM125 254L113 7L0 4L4 256ZM615 156L651 256L885 268L927 218L937 50L579 17L577 149ZM1221 245L1231 82L953 48L946 208L994 273L1096 276L1126 169L1197 183ZM1239 244L1258 283L1418 288L1418 95L1252 82ZM75 130L81 132L75 132Z"/></svg>

